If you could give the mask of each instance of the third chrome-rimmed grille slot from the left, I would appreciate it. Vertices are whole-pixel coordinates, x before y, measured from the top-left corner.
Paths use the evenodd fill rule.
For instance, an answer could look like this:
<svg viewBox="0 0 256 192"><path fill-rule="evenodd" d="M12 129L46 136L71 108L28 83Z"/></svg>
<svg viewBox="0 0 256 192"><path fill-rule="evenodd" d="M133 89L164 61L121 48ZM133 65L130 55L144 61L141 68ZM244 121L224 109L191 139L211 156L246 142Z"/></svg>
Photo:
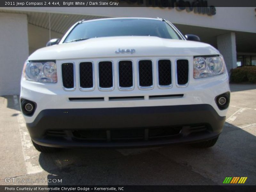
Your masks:
<svg viewBox="0 0 256 192"><path fill-rule="evenodd" d="M111 61L99 62L99 87L103 89L113 87L113 65Z"/></svg>

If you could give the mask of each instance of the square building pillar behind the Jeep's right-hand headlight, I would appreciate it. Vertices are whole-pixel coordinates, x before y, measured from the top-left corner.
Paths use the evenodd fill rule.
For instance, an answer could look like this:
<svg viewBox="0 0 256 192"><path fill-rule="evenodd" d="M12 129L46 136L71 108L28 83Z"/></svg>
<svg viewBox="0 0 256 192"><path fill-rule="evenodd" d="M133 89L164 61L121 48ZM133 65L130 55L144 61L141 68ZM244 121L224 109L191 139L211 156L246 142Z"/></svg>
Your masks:
<svg viewBox="0 0 256 192"><path fill-rule="evenodd" d="M234 32L217 36L217 46L223 55L228 73L236 68L236 34Z"/></svg>

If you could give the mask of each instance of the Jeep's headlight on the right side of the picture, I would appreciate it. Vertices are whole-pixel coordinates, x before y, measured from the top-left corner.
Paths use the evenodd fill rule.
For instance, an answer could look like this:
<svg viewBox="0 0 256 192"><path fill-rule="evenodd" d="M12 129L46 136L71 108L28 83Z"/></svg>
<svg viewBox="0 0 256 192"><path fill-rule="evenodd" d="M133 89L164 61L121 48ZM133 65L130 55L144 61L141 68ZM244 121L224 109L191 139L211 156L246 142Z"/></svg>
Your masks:
<svg viewBox="0 0 256 192"><path fill-rule="evenodd" d="M225 72L225 62L222 56L195 57L194 78L219 75Z"/></svg>

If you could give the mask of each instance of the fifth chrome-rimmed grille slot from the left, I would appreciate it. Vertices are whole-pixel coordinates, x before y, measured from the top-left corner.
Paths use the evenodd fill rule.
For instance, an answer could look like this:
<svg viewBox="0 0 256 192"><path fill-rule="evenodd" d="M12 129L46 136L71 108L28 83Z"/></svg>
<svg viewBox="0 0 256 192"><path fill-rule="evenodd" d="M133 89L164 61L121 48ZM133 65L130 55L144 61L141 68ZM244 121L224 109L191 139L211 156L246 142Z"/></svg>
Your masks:
<svg viewBox="0 0 256 192"><path fill-rule="evenodd" d="M152 61L151 60L140 60L139 61L139 85L143 87L153 86L153 71L152 71Z"/></svg>

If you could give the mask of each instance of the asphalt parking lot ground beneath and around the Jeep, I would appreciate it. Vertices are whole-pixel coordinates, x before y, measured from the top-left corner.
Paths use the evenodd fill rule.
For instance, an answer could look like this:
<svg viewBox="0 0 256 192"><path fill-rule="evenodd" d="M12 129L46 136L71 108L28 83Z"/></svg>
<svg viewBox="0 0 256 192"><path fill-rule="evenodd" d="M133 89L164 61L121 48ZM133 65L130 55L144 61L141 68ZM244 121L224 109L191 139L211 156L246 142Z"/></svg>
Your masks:
<svg viewBox="0 0 256 192"><path fill-rule="evenodd" d="M32 146L18 97L0 97L0 185L29 184L6 183L5 178L11 177L41 180L34 185L221 185L225 177L248 177L245 184L255 185L256 84L231 84L230 88L223 132L208 149L172 145L43 154Z"/></svg>

